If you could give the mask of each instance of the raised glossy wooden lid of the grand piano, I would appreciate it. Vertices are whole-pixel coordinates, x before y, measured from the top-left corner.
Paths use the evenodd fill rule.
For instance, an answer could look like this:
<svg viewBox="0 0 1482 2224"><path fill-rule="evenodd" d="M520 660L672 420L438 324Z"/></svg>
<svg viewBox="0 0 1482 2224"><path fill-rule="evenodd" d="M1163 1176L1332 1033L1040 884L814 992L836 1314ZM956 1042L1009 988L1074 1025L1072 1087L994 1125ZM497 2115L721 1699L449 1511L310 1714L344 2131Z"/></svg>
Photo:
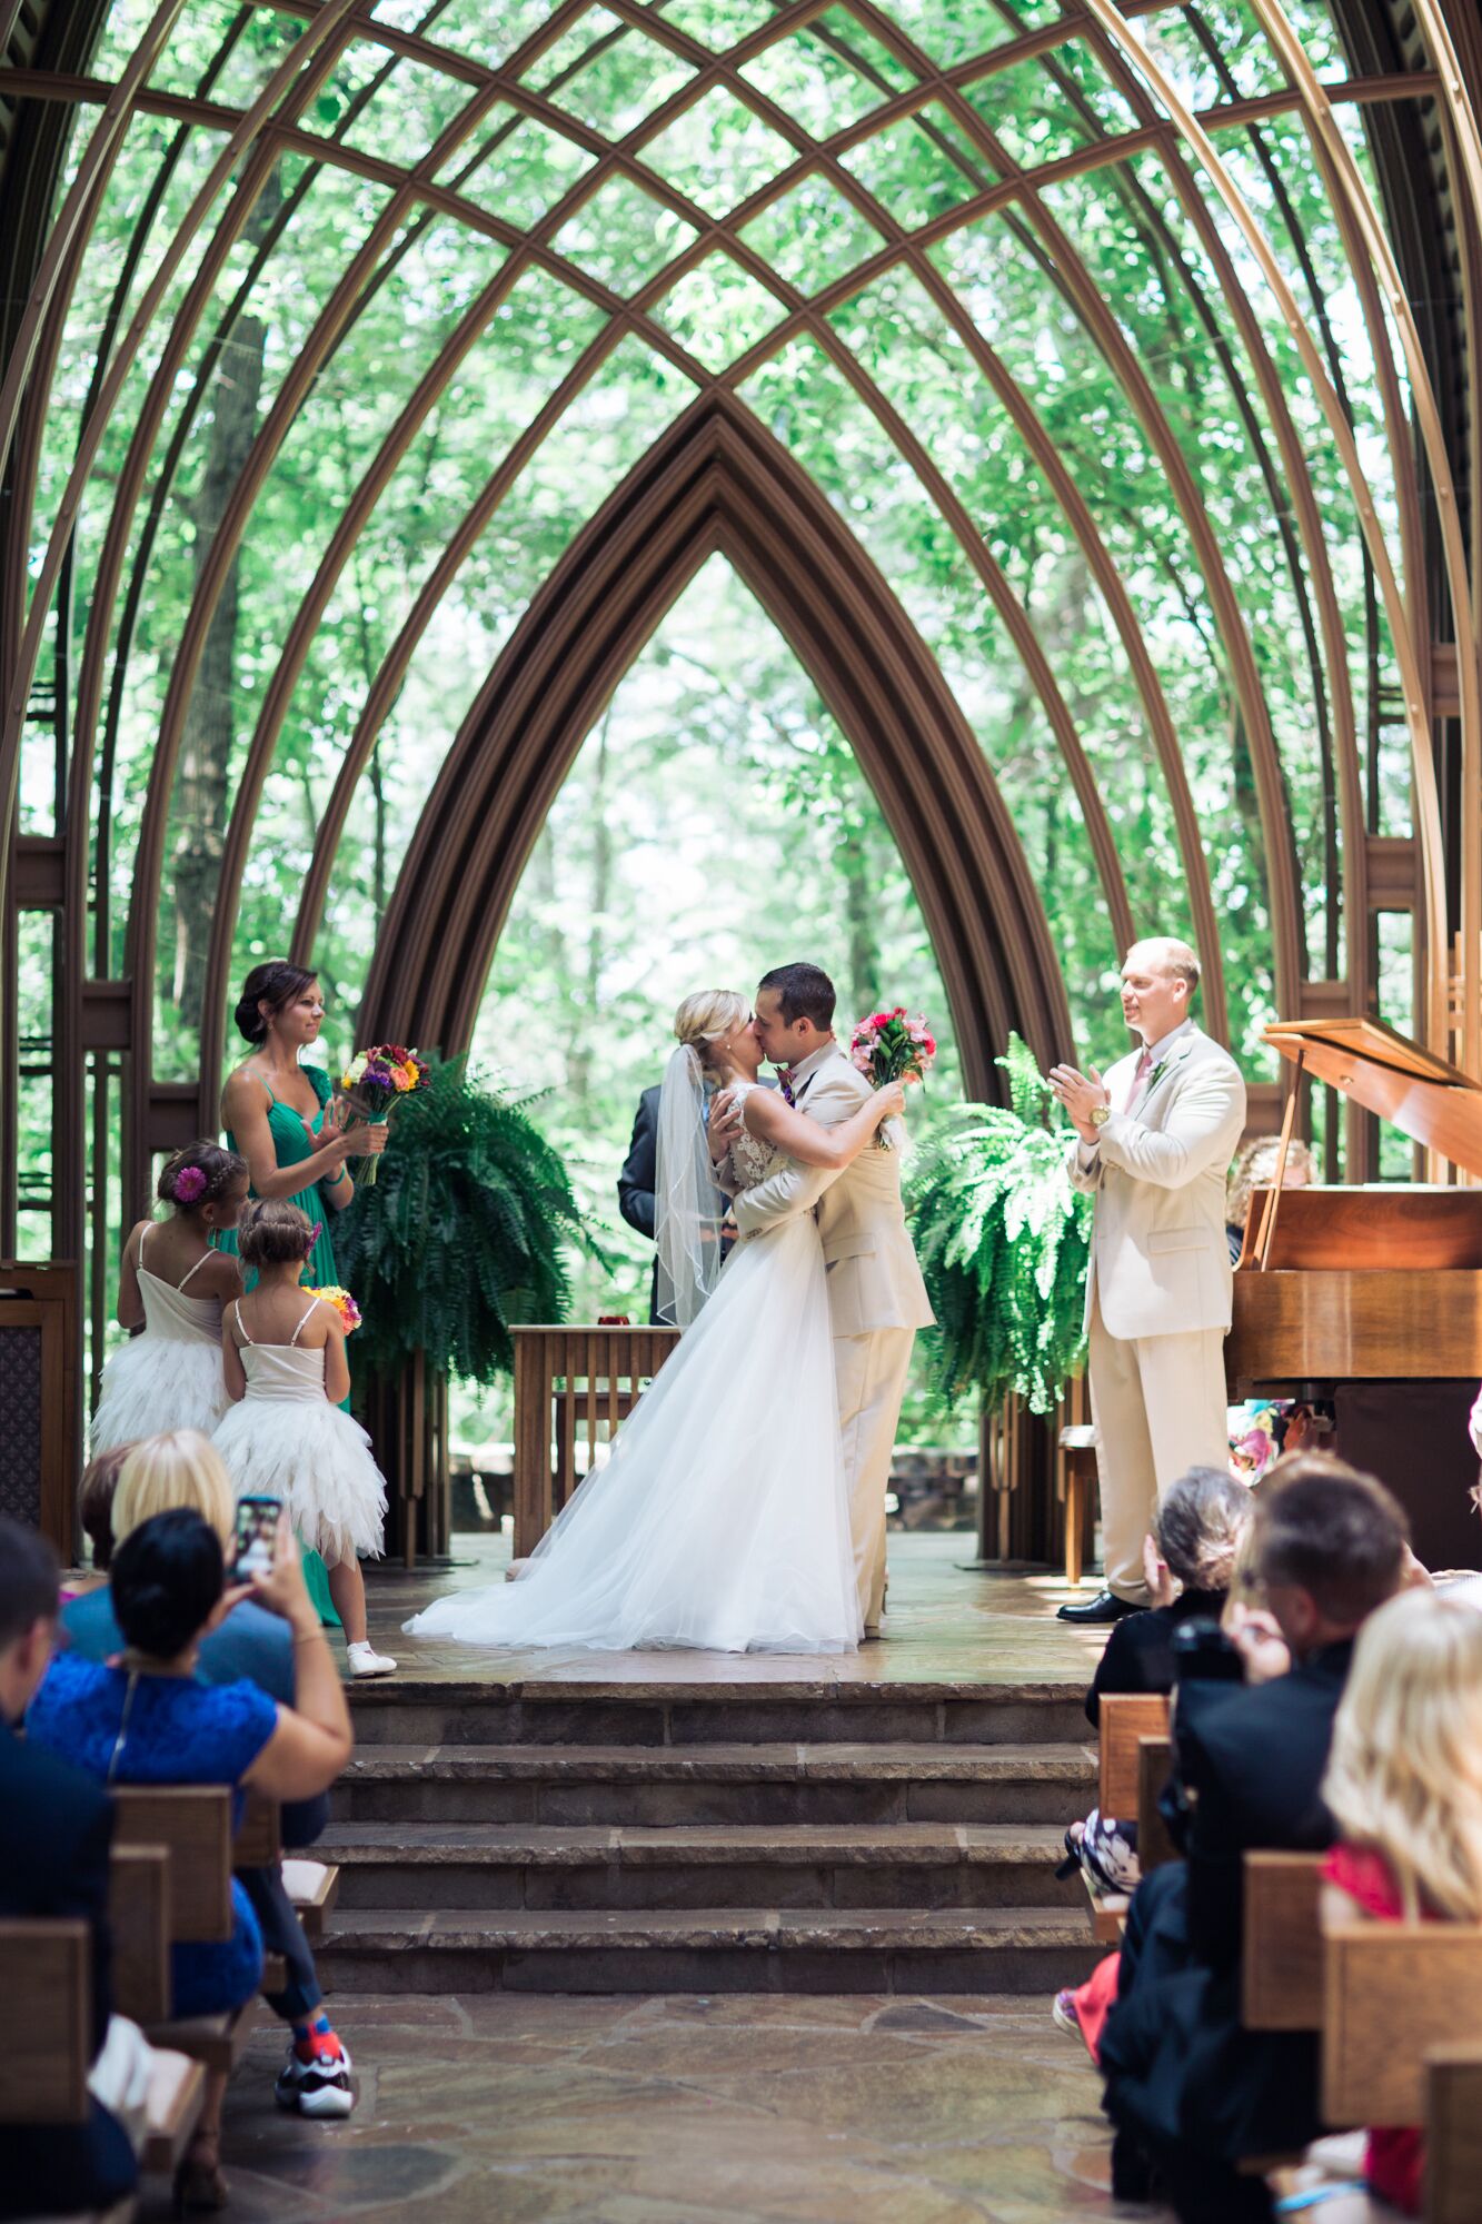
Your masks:
<svg viewBox="0 0 1482 2224"><path fill-rule="evenodd" d="M1382 1019L1284 1019L1264 1030L1284 1059L1326 1081L1469 1174L1482 1174L1482 1081Z"/></svg>

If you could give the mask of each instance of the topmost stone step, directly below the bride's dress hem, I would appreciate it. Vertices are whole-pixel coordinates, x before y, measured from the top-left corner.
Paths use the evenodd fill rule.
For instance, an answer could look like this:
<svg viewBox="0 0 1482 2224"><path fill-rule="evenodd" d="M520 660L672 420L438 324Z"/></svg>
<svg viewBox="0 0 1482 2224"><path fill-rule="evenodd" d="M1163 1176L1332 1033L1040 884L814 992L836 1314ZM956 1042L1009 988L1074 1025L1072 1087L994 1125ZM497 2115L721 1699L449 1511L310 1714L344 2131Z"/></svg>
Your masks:
<svg viewBox="0 0 1482 2224"><path fill-rule="evenodd" d="M429 1681L352 1690L356 1746L1024 1746L1086 1741L1084 1684Z"/></svg>

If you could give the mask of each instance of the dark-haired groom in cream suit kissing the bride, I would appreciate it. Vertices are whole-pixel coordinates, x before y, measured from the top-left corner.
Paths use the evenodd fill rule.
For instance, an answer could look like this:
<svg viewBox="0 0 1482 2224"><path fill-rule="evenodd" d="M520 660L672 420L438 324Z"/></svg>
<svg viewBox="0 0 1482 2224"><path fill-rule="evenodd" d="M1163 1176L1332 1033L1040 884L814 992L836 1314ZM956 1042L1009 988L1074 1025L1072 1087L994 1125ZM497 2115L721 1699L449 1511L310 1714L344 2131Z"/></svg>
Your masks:
<svg viewBox="0 0 1482 2224"><path fill-rule="evenodd" d="M872 1094L834 1039L834 983L819 965L779 965L765 974L752 1032L781 1074L783 1096L806 1119L837 1128ZM712 1121L712 1156L723 1159L739 1132L739 1121L721 1128ZM866 1637L879 1637L895 1430L910 1346L917 1328L932 1321L906 1234L899 1150L863 1150L839 1174L786 1165L761 1188L743 1190L737 1197L743 1241L799 1208L812 1208L823 1239L859 1612Z"/></svg>

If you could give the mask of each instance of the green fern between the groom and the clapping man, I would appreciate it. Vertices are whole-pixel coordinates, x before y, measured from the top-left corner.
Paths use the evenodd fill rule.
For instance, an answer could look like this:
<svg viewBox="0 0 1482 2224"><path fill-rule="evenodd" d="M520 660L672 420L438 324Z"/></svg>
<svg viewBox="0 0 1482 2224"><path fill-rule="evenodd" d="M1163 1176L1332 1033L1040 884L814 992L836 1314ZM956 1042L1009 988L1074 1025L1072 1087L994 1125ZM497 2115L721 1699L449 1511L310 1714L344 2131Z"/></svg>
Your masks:
<svg viewBox="0 0 1482 2224"><path fill-rule="evenodd" d="M912 1232L937 1314L937 1390L1050 1412L1084 1352L1090 1199L1070 1188L1073 1130L1017 1034L997 1061L1010 1105L964 1105L910 1179Z"/></svg>

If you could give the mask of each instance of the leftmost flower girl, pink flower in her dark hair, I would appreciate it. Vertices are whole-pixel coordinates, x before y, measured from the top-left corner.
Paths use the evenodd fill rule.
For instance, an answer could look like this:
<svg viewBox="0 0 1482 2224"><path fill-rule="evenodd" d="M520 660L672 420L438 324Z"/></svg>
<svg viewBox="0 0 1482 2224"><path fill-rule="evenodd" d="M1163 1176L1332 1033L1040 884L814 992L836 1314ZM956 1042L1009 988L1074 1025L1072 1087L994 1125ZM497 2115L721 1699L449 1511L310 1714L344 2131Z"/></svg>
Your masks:
<svg viewBox="0 0 1482 2224"><path fill-rule="evenodd" d="M247 1161L220 1143L189 1143L167 1161L158 1197L167 1221L129 1230L118 1277L118 1319L142 1323L102 1370L89 1432L91 1457L160 1430L211 1434L227 1406L220 1366L223 1305L243 1290L243 1270L211 1237L236 1228L247 1203Z"/></svg>

